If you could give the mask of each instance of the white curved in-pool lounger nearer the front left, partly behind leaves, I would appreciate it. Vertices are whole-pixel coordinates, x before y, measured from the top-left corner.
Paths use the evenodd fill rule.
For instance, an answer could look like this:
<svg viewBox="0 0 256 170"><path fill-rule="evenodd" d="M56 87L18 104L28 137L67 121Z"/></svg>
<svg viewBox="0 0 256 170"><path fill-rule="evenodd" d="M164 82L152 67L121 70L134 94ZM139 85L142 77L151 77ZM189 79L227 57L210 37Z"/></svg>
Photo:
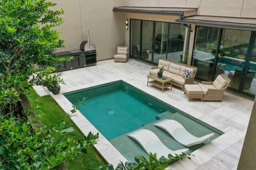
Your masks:
<svg viewBox="0 0 256 170"><path fill-rule="evenodd" d="M135 139L148 154L150 152L152 152L153 154L156 153L159 158L160 156L165 156L166 158L168 158L168 154L172 154L172 156L175 156L175 154L182 154L182 152L188 151L188 149L169 149L160 141L156 134L147 129L139 129L137 131L127 134L127 136Z"/></svg>

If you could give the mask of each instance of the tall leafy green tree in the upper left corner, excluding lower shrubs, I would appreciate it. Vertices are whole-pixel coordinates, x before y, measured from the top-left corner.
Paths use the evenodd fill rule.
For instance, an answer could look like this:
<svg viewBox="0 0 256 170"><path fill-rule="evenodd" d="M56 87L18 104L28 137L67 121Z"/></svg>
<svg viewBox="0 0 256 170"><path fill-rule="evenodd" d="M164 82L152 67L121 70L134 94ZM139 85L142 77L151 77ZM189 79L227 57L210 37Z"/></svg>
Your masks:
<svg viewBox="0 0 256 170"><path fill-rule="evenodd" d="M0 113L12 113L18 96L31 86L35 64L54 66L52 55L64 47L60 32L53 27L63 23L61 10L46 0L0 1Z"/></svg>

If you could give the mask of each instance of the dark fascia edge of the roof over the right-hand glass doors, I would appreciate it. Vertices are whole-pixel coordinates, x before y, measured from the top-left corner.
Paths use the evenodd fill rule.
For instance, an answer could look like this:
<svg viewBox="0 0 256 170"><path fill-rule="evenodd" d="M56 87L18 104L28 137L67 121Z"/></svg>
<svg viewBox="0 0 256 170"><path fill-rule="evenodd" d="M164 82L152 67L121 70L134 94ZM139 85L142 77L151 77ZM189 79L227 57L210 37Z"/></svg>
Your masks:
<svg viewBox="0 0 256 170"><path fill-rule="evenodd" d="M205 21L205 20L192 20L192 19L185 19L182 20L178 19L175 20L178 23L185 23L185 24L193 24L193 25L202 25L202 26L212 26L212 27L225 27L225 28L232 28L232 29L249 29L252 31L256 31L256 24L250 23L234 23L234 22L224 22L224 21Z"/></svg>

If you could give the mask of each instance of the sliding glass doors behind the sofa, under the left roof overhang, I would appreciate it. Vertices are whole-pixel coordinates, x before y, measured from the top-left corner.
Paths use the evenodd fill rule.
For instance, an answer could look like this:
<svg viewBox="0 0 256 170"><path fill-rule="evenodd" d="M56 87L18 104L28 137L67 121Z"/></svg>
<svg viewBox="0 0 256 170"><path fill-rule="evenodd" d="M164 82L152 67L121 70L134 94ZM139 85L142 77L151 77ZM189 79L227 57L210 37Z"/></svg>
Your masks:
<svg viewBox="0 0 256 170"><path fill-rule="evenodd" d="M133 19L130 23L130 57L153 64L162 58L174 61L182 58L184 25Z"/></svg>

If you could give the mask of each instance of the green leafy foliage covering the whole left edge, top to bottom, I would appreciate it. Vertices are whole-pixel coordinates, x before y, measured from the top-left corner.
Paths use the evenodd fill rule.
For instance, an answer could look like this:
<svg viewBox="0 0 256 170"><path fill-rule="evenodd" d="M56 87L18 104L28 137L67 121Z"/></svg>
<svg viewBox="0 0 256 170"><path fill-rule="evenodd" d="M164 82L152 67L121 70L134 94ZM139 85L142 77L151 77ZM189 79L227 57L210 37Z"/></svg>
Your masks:
<svg viewBox="0 0 256 170"><path fill-rule="evenodd" d="M30 80L41 70L35 65L55 66L56 61L71 59L52 55L64 47L60 32L53 29L63 23L64 11L50 10L53 6L46 0L0 0L0 169L54 169L98 139L98 134L89 133L82 139L60 140L69 116L50 129L32 128L25 116L14 117L20 95L40 83Z"/></svg>

